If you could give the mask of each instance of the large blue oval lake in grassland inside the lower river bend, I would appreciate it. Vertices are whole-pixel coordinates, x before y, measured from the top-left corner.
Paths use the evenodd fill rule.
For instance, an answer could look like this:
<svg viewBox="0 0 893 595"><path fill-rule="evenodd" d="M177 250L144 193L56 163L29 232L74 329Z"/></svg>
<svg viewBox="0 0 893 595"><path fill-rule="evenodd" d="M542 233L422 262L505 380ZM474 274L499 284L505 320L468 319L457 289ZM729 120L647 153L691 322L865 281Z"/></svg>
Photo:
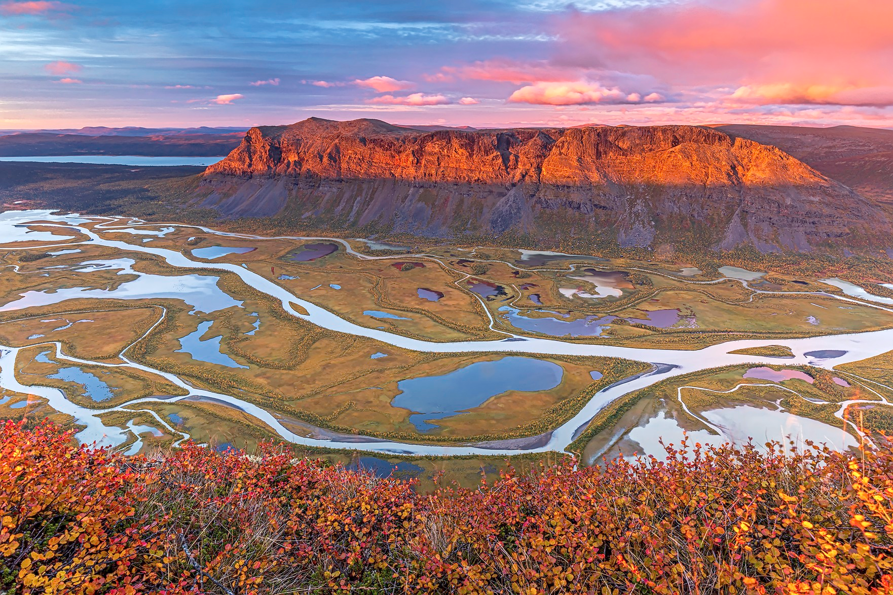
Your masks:
<svg viewBox="0 0 893 595"><path fill-rule="evenodd" d="M413 411L409 421L420 432L437 426L426 420L453 417L507 391L548 391L561 384L564 369L544 359L510 356L476 361L442 376L401 380L391 405Z"/></svg>

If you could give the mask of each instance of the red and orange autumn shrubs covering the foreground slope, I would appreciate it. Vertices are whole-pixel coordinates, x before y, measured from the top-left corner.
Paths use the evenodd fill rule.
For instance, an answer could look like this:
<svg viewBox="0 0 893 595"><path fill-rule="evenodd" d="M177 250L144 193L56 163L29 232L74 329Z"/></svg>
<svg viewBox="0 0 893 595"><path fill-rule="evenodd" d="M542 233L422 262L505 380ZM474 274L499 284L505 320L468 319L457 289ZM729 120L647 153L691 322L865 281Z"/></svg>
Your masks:
<svg viewBox="0 0 893 595"><path fill-rule="evenodd" d="M689 449L422 495L272 446L129 459L0 431L0 591L893 591L889 448Z"/></svg>

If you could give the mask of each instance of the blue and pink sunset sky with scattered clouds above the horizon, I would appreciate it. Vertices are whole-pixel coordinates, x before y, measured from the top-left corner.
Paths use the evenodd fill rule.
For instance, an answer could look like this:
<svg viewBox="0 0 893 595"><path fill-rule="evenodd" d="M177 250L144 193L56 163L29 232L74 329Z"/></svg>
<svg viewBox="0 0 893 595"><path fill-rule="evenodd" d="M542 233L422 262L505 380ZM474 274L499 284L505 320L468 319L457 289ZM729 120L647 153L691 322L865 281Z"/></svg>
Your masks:
<svg viewBox="0 0 893 595"><path fill-rule="evenodd" d="M0 129L893 127L891 0L0 0Z"/></svg>

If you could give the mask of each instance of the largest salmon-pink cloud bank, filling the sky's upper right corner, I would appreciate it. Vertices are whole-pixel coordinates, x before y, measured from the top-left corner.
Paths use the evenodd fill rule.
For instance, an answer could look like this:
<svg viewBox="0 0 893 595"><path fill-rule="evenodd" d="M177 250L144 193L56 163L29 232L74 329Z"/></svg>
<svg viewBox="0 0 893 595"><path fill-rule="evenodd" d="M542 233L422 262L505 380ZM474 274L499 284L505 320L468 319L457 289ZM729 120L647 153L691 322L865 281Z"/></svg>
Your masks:
<svg viewBox="0 0 893 595"><path fill-rule="evenodd" d="M731 99L750 104L893 104L893 3L884 0L701 0L556 22L563 66L731 87Z"/></svg>

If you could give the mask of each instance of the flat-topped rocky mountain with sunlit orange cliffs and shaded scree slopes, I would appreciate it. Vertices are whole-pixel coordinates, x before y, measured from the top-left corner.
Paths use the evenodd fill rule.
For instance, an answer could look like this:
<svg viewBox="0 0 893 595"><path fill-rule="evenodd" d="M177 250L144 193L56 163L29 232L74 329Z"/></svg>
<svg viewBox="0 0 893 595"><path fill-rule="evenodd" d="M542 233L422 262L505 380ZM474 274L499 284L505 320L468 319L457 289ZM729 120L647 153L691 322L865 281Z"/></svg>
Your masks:
<svg viewBox="0 0 893 595"><path fill-rule="evenodd" d="M690 126L423 131L311 118L252 128L194 206L316 227L589 237L762 251L881 247L872 202L788 153Z"/></svg>

